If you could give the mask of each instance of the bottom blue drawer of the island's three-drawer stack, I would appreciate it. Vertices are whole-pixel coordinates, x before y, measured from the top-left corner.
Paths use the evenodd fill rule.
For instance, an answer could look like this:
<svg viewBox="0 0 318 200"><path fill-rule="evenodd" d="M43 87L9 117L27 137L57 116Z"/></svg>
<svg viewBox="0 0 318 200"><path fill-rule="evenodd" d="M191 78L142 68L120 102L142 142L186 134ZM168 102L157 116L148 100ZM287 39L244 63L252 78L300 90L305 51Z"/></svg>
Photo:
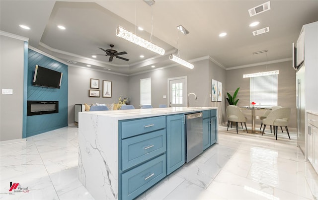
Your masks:
<svg viewBox="0 0 318 200"><path fill-rule="evenodd" d="M165 175L165 154L122 174L122 199L134 199Z"/></svg>

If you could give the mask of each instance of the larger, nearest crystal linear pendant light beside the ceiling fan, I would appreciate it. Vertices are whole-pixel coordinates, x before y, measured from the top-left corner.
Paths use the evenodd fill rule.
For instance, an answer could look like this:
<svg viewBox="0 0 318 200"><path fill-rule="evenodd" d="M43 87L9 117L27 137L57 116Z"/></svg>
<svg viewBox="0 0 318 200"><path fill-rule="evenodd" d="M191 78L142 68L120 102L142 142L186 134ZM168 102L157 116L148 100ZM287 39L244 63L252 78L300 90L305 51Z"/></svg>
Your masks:
<svg viewBox="0 0 318 200"><path fill-rule="evenodd" d="M133 34L132 32L127 31L126 29L124 29L121 26L118 26L118 28L116 29L116 35L118 37L125 39L125 40L128 40L129 42L132 42L132 43L139 45L141 47L144 47L152 52L155 52L161 56L163 56L165 53L164 49L162 49L161 47Z"/></svg>

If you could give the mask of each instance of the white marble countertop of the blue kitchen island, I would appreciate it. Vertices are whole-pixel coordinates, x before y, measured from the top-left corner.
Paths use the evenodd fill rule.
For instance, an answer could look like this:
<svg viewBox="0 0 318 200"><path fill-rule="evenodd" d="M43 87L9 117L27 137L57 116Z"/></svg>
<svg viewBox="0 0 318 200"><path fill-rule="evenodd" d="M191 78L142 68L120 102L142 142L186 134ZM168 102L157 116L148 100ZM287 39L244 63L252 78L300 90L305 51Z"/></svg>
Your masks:
<svg viewBox="0 0 318 200"><path fill-rule="evenodd" d="M155 117L162 115L173 115L178 113L191 113L196 111L218 109L217 107L169 107L169 108L149 108L131 110L109 110L109 111L90 111L80 112L80 115L99 115L111 117L117 120Z"/></svg>

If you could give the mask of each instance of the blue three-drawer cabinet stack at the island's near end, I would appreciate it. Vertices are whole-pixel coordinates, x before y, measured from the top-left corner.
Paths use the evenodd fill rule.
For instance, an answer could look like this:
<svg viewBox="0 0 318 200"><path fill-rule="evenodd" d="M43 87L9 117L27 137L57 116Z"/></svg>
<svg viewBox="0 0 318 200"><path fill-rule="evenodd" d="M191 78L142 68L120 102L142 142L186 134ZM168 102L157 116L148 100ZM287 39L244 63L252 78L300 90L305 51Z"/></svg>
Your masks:
<svg viewBox="0 0 318 200"><path fill-rule="evenodd" d="M166 176L165 116L118 125L118 199L132 200Z"/></svg>

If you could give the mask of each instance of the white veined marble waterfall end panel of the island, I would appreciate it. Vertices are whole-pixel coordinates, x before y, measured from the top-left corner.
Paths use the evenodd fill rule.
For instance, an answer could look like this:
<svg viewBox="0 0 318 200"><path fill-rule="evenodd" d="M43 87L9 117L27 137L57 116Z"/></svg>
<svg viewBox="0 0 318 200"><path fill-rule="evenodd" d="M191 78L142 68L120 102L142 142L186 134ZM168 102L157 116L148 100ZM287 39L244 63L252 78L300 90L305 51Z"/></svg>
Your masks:
<svg viewBox="0 0 318 200"><path fill-rule="evenodd" d="M79 122L79 181L95 199L116 200L118 120L80 114Z"/></svg>

